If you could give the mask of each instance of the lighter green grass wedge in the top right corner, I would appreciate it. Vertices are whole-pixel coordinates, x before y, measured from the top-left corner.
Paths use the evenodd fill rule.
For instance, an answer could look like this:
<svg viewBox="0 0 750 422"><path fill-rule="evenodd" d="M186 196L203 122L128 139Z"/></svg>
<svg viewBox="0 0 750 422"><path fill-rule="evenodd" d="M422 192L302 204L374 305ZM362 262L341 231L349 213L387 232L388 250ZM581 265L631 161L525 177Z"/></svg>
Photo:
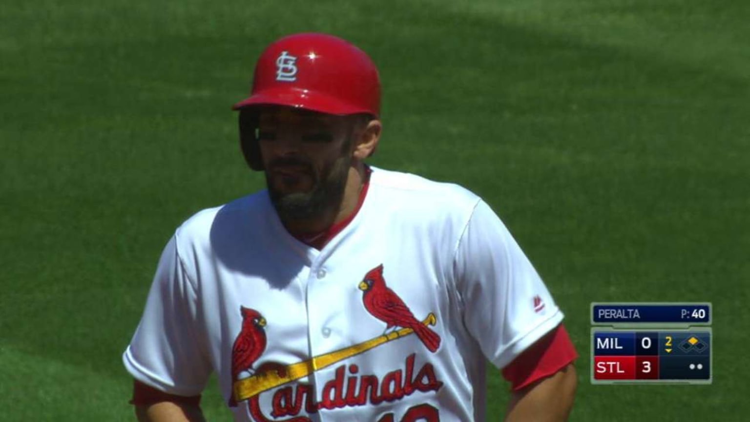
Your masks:
<svg viewBox="0 0 750 422"><path fill-rule="evenodd" d="M699 66L750 81L750 4L730 0L422 0L455 14L499 25L523 26L583 44L629 50L656 61Z"/></svg>

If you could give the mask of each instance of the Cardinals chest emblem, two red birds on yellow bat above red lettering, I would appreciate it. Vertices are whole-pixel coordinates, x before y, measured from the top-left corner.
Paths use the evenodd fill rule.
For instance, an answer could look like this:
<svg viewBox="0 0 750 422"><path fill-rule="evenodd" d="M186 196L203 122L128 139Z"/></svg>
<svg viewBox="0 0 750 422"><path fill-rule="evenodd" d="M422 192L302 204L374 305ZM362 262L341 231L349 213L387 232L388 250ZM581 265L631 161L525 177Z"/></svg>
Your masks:
<svg viewBox="0 0 750 422"><path fill-rule="evenodd" d="M363 291L365 309L385 322L386 330L365 342L289 365L266 362L255 366L266 349L266 319L260 312L242 307L242 330L232 351L233 394L229 405L234 407L238 402L248 400L248 411L257 422L309 422L308 417L300 415L303 409L313 414L321 409L395 402L414 393L440 390L443 382L437 378L434 366L429 362L417 366L416 353L405 357L398 369L380 376L361 374L358 365L342 363L350 357L411 334L416 334L428 351L434 353L440 347L440 336L428 327L437 323L435 315L430 313L424 321L417 320L404 301L386 286L383 265L370 270L359 282L359 289ZM320 389L320 397L317 397L312 385L293 382L337 363L342 364L336 367L334 378ZM274 390L270 401L271 411L260 405L260 395L269 390ZM407 409L404 417L422 420L419 417L437 417L438 413L437 408L424 403ZM289 418L278 419L280 417ZM393 414L383 415L378 422L388 420L394 420ZM438 419L430 417L426 420Z"/></svg>

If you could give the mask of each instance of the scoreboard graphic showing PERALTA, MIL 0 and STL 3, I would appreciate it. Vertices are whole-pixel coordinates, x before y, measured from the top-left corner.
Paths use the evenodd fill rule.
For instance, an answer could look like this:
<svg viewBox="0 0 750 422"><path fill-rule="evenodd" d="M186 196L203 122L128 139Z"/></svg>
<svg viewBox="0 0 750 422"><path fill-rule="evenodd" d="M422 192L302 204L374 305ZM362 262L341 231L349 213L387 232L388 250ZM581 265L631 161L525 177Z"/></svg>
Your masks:
<svg viewBox="0 0 750 422"><path fill-rule="evenodd" d="M711 303L592 303L592 384L711 384Z"/></svg>

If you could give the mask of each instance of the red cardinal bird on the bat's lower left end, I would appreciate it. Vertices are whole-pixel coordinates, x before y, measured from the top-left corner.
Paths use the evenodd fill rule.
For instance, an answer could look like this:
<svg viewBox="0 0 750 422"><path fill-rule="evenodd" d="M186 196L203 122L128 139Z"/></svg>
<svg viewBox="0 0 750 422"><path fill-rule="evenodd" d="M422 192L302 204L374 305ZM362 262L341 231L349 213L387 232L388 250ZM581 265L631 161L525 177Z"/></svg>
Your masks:
<svg viewBox="0 0 750 422"><path fill-rule="evenodd" d="M242 330L232 348L232 382L237 381L240 372L253 373L253 364L266 350L266 318L255 309L245 306L240 306L239 311L242 315ZM229 400L229 405L237 405L234 396Z"/></svg>

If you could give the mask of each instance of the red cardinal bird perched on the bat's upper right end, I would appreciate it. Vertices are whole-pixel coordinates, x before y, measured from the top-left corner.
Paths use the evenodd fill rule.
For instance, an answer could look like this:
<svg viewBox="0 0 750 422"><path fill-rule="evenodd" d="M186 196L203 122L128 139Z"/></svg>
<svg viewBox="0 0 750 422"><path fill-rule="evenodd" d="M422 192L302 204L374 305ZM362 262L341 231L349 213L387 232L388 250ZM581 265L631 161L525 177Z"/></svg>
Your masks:
<svg viewBox="0 0 750 422"><path fill-rule="evenodd" d="M440 347L440 336L414 318L404 300L386 286L383 264L365 274L365 278L359 282L359 290L364 292L362 301L365 303L365 309L375 318L385 322L386 330L392 327L411 328L429 351L434 353Z"/></svg>

